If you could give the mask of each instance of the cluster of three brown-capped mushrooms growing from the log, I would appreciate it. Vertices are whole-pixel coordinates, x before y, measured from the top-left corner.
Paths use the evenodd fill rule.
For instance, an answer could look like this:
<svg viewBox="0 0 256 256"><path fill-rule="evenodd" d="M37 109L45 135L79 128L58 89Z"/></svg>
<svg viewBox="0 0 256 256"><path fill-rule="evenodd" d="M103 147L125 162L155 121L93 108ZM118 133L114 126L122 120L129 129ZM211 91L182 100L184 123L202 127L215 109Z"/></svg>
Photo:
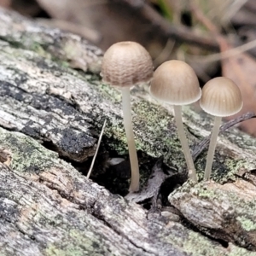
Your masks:
<svg viewBox="0 0 256 256"><path fill-rule="evenodd" d="M130 162L131 184L129 191L139 190L139 167L132 122L130 88L150 82L150 94L160 102L173 105L177 133L187 163L189 178L197 183L194 162L183 129L182 106L200 100L201 108L215 116L212 137L207 154L204 178L208 180L212 171L212 160L217 143L222 117L238 113L242 107L241 91L230 79L212 79L201 90L197 76L183 61L166 61L153 71L153 62L148 51L135 42L113 44L102 60L102 80L122 91L125 134L127 137Z"/></svg>

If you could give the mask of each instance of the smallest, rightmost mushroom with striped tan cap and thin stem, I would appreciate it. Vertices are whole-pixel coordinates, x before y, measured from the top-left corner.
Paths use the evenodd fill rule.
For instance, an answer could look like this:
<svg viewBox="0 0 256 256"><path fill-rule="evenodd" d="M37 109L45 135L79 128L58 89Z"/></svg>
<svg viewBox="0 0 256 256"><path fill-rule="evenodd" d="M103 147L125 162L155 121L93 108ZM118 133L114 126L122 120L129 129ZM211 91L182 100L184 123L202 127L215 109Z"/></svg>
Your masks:
<svg viewBox="0 0 256 256"><path fill-rule="evenodd" d="M241 110L241 91L231 79L224 77L212 79L208 81L202 89L200 106L205 112L215 116L204 176L204 178L208 180L212 172L213 155L216 148L221 119L222 117L238 113Z"/></svg>

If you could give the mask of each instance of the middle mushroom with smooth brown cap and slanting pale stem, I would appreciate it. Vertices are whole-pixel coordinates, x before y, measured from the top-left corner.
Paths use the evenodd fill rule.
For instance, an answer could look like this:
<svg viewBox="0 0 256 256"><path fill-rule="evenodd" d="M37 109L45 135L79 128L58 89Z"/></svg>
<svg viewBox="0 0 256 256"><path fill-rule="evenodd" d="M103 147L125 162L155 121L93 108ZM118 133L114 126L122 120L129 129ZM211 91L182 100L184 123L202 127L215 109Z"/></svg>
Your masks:
<svg viewBox="0 0 256 256"><path fill-rule="evenodd" d="M177 134L182 144L189 177L197 182L181 113L182 105L196 102L201 97L201 89L194 70L183 61L166 61L155 70L149 90L156 99L173 105Z"/></svg>

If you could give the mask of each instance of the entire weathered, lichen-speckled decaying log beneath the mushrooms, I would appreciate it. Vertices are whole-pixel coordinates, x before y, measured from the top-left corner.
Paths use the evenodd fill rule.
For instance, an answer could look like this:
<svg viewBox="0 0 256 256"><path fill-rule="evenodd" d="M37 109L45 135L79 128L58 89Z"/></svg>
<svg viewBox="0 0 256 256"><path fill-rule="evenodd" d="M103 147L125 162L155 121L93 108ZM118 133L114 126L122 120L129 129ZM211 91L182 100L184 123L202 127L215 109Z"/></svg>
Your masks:
<svg viewBox="0 0 256 256"><path fill-rule="evenodd" d="M214 182L172 192L186 225L150 213L60 159L93 155L104 119L103 143L127 154L120 93L97 74L101 50L2 9L0 24L1 255L255 255L254 138L226 131ZM141 88L132 95L137 148L185 176L172 108ZM184 108L184 122L196 148L212 119ZM206 154L195 161L200 178Z"/></svg>

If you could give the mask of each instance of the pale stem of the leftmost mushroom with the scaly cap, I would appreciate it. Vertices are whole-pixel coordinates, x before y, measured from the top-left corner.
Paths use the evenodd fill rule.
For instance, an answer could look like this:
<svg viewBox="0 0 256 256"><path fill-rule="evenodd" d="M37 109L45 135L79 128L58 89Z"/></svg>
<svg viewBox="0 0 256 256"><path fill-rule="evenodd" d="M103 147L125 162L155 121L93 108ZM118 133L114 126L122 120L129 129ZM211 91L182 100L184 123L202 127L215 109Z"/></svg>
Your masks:
<svg viewBox="0 0 256 256"><path fill-rule="evenodd" d="M127 137L129 157L131 163L131 184L129 191L134 192L139 189L140 175L137 161L137 152L135 147L134 134L131 124L131 99L130 88L122 87L122 104L124 113L125 134Z"/></svg>

